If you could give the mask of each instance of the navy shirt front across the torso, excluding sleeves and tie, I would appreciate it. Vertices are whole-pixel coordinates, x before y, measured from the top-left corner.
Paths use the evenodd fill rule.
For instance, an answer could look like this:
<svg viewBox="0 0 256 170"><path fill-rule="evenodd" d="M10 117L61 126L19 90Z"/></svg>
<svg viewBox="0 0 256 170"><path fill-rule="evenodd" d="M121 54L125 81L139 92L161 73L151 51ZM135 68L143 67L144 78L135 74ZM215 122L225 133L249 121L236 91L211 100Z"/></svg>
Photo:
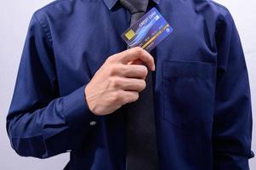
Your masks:
<svg viewBox="0 0 256 170"><path fill-rule="evenodd" d="M155 6L174 31L151 54L156 61L156 133L162 169L212 169L212 127L217 65L216 28L225 8L208 1L162 0ZM81 87L111 54L127 48L121 34L130 14L104 1L59 1L37 12L52 37L60 96ZM69 85L66 85L69 82ZM102 116L71 152L73 169L124 169L122 108ZM79 165L79 166L77 166Z"/></svg>

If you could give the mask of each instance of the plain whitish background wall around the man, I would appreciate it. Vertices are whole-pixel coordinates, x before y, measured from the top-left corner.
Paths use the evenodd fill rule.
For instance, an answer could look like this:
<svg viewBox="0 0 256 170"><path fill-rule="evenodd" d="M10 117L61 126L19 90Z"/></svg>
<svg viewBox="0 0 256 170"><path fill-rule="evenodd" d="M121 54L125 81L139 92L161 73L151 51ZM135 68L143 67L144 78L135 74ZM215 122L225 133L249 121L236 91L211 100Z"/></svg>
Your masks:
<svg viewBox="0 0 256 170"><path fill-rule="evenodd" d="M50 0L0 0L0 169L44 170L62 169L69 160L67 154L40 160L20 157L11 149L5 129L6 115L14 90L14 82L25 42L31 14ZM230 9L242 39L251 82L253 113L256 112L256 2L254 0L217 0ZM253 126L253 150L256 151L256 123ZM256 169L255 159L250 160Z"/></svg>

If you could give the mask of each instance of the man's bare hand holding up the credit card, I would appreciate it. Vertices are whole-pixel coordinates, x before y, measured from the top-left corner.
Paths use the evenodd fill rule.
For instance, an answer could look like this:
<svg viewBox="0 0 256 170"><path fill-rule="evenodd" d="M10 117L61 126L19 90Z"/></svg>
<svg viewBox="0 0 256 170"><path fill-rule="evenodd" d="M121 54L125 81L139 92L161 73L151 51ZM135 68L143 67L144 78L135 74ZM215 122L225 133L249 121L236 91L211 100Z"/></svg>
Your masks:
<svg viewBox="0 0 256 170"><path fill-rule="evenodd" d="M155 71L153 57L139 47L106 59L84 90L89 110L98 116L107 115L139 99L148 73L142 64Z"/></svg>

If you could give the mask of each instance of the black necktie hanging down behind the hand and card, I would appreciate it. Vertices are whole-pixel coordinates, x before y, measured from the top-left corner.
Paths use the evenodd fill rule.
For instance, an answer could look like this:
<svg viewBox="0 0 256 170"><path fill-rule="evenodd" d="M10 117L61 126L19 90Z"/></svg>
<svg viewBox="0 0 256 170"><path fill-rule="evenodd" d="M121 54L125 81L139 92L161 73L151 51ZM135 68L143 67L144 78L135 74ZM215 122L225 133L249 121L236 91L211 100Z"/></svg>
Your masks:
<svg viewBox="0 0 256 170"><path fill-rule="evenodd" d="M149 3L148 0L120 0L120 2L132 14L131 26L145 14ZM145 82L146 88L139 94L139 99L126 105L127 170L158 169L153 84L150 70Z"/></svg>

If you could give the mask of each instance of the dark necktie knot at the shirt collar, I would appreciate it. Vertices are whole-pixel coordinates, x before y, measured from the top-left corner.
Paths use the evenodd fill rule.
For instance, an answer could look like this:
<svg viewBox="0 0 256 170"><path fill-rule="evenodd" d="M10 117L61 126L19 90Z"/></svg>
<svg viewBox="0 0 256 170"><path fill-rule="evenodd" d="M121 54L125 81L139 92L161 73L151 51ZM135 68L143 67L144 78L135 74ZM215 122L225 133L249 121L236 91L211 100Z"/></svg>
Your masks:
<svg viewBox="0 0 256 170"><path fill-rule="evenodd" d="M146 11L149 0L120 0L124 8L127 8L131 14Z"/></svg>

